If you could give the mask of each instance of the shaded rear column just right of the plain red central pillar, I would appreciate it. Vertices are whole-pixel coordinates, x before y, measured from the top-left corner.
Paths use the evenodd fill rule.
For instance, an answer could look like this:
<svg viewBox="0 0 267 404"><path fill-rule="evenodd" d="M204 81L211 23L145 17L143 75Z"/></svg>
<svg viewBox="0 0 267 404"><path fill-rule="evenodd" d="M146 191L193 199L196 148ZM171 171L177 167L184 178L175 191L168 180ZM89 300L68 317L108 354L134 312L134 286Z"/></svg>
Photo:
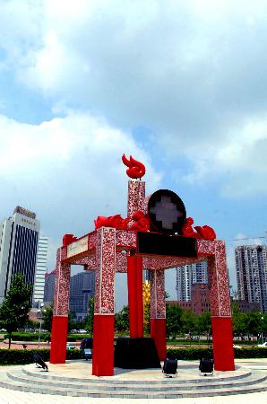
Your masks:
<svg viewBox="0 0 267 404"><path fill-rule="evenodd" d="M164 270L151 270L151 338L160 360L166 359L166 304Z"/></svg>

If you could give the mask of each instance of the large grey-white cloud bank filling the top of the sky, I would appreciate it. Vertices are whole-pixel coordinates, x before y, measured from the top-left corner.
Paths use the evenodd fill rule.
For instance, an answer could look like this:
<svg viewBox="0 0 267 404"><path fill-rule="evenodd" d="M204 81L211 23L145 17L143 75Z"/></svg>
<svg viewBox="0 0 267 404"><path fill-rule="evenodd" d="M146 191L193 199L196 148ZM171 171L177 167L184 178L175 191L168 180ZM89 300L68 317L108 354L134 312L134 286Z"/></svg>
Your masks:
<svg viewBox="0 0 267 404"><path fill-rule="evenodd" d="M161 154L189 162L185 181L266 194L264 1L13 0L2 12L6 63L54 111L148 127Z"/></svg>

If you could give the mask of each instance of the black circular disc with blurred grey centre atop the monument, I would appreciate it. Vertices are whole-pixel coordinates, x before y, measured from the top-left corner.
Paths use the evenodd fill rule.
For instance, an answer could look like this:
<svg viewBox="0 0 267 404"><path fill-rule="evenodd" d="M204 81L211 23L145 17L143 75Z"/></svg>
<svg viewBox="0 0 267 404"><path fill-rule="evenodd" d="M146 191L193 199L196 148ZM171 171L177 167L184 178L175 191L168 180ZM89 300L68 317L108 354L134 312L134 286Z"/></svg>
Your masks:
<svg viewBox="0 0 267 404"><path fill-rule="evenodd" d="M151 231L181 233L186 211L181 198L168 189L159 189L151 195L148 203Z"/></svg>

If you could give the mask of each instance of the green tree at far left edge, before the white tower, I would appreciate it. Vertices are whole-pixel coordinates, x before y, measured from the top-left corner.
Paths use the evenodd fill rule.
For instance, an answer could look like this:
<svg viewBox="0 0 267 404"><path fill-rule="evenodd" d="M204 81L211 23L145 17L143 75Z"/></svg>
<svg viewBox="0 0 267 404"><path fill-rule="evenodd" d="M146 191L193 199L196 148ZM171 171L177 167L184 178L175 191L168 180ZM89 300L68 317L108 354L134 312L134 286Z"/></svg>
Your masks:
<svg viewBox="0 0 267 404"><path fill-rule="evenodd" d="M10 289L0 305L0 326L8 333L9 349L14 330L22 328L30 312L32 285L25 283L22 274L13 277Z"/></svg>

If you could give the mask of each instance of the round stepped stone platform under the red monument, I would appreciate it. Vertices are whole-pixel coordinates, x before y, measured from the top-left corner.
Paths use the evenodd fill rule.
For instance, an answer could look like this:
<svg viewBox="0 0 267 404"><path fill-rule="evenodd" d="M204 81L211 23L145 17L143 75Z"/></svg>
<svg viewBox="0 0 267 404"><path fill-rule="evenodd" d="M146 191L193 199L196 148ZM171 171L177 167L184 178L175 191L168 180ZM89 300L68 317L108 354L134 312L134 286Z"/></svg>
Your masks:
<svg viewBox="0 0 267 404"><path fill-rule="evenodd" d="M115 368L114 376L92 376L90 362L48 364L49 372L27 364L2 372L0 386L42 394L117 399L179 399L267 391L267 373L237 365L234 372L199 373L198 362L179 361L177 376L160 369Z"/></svg>

